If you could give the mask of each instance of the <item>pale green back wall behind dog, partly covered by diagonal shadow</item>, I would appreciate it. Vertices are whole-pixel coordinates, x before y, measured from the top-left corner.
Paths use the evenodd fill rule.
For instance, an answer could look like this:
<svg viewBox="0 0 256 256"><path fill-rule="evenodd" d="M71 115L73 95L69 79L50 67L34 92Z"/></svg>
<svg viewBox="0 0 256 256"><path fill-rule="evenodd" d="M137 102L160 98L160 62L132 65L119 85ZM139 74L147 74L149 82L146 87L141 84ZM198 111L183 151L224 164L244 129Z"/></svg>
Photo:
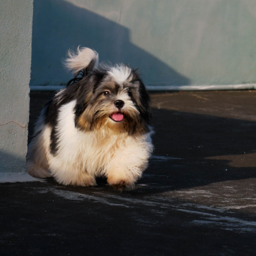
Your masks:
<svg viewBox="0 0 256 256"><path fill-rule="evenodd" d="M65 84L78 45L147 85L256 83L256 1L35 0L31 85Z"/></svg>

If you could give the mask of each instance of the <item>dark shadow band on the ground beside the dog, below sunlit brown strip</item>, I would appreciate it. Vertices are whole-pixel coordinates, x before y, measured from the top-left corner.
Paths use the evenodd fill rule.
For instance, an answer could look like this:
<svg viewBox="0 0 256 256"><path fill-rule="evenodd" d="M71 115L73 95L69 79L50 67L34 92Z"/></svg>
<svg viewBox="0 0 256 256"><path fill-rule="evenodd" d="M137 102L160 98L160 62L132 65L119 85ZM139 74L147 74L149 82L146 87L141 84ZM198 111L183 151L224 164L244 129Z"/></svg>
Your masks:
<svg viewBox="0 0 256 256"><path fill-rule="evenodd" d="M31 93L29 139L35 117L51 92ZM128 194L163 193L215 182L256 178L256 122L152 109L154 153L149 167ZM98 188L107 189L98 179ZM91 188L68 186L84 191Z"/></svg>

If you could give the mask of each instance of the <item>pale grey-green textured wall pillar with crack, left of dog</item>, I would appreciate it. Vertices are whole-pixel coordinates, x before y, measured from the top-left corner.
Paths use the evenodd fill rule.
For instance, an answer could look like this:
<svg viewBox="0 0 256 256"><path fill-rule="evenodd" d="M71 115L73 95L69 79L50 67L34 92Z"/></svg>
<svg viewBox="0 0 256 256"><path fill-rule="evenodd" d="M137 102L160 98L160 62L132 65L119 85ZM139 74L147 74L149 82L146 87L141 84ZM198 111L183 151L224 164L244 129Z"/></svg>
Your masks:
<svg viewBox="0 0 256 256"><path fill-rule="evenodd" d="M33 0L0 0L0 173L25 171L32 15Z"/></svg>

